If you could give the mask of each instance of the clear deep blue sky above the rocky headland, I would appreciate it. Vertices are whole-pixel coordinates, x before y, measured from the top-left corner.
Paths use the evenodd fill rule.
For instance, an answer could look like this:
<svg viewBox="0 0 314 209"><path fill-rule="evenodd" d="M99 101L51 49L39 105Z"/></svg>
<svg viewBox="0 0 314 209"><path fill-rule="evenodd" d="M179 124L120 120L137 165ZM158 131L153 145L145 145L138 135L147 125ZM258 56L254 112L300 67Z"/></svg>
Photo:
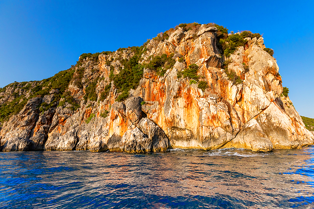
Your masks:
<svg viewBox="0 0 314 209"><path fill-rule="evenodd" d="M180 23L263 34L300 115L314 118L314 1L0 0L0 87L42 80L82 53L140 46Z"/></svg>

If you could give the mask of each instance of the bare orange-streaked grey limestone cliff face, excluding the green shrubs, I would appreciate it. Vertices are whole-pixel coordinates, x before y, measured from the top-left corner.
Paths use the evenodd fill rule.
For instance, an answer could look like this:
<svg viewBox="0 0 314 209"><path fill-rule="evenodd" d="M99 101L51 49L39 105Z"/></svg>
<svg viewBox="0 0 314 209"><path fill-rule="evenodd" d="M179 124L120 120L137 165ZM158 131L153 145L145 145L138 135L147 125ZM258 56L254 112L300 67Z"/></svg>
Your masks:
<svg viewBox="0 0 314 209"><path fill-rule="evenodd" d="M219 54L216 37L217 28L202 25L197 31L178 28L168 39L151 40L141 63L171 53L176 63L163 76L144 68L139 86L123 102L115 102L121 93L109 76L119 74L124 68L119 58L130 59L132 50L101 54L97 62L84 59L76 66L76 73L84 69L82 86L73 76L67 90L80 107L71 110L65 102L40 113L40 104L52 102L54 92L28 100L3 123L0 149L143 153L235 147L270 151L313 144L313 134L289 97L282 95L279 67L263 50L263 38L246 38L246 44L230 55L228 71L242 80L236 85L222 69L226 58ZM181 57L185 62L178 61ZM190 64L198 65L199 81L205 81L208 88L202 90L188 78L178 77ZM84 99L89 81L96 82L95 102ZM10 91L2 94L9 99Z"/></svg>

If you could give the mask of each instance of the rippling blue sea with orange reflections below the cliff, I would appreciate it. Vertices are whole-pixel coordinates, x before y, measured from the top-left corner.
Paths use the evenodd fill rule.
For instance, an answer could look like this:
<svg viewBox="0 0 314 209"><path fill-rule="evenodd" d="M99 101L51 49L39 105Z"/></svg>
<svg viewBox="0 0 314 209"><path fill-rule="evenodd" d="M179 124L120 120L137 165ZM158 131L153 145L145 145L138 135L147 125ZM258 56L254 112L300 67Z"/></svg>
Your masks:
<svg viewBox="0 0 314 209"><path fill-rule="evenodd" d="M0 153L0 208L313 208L314 146Z"/></svg>

